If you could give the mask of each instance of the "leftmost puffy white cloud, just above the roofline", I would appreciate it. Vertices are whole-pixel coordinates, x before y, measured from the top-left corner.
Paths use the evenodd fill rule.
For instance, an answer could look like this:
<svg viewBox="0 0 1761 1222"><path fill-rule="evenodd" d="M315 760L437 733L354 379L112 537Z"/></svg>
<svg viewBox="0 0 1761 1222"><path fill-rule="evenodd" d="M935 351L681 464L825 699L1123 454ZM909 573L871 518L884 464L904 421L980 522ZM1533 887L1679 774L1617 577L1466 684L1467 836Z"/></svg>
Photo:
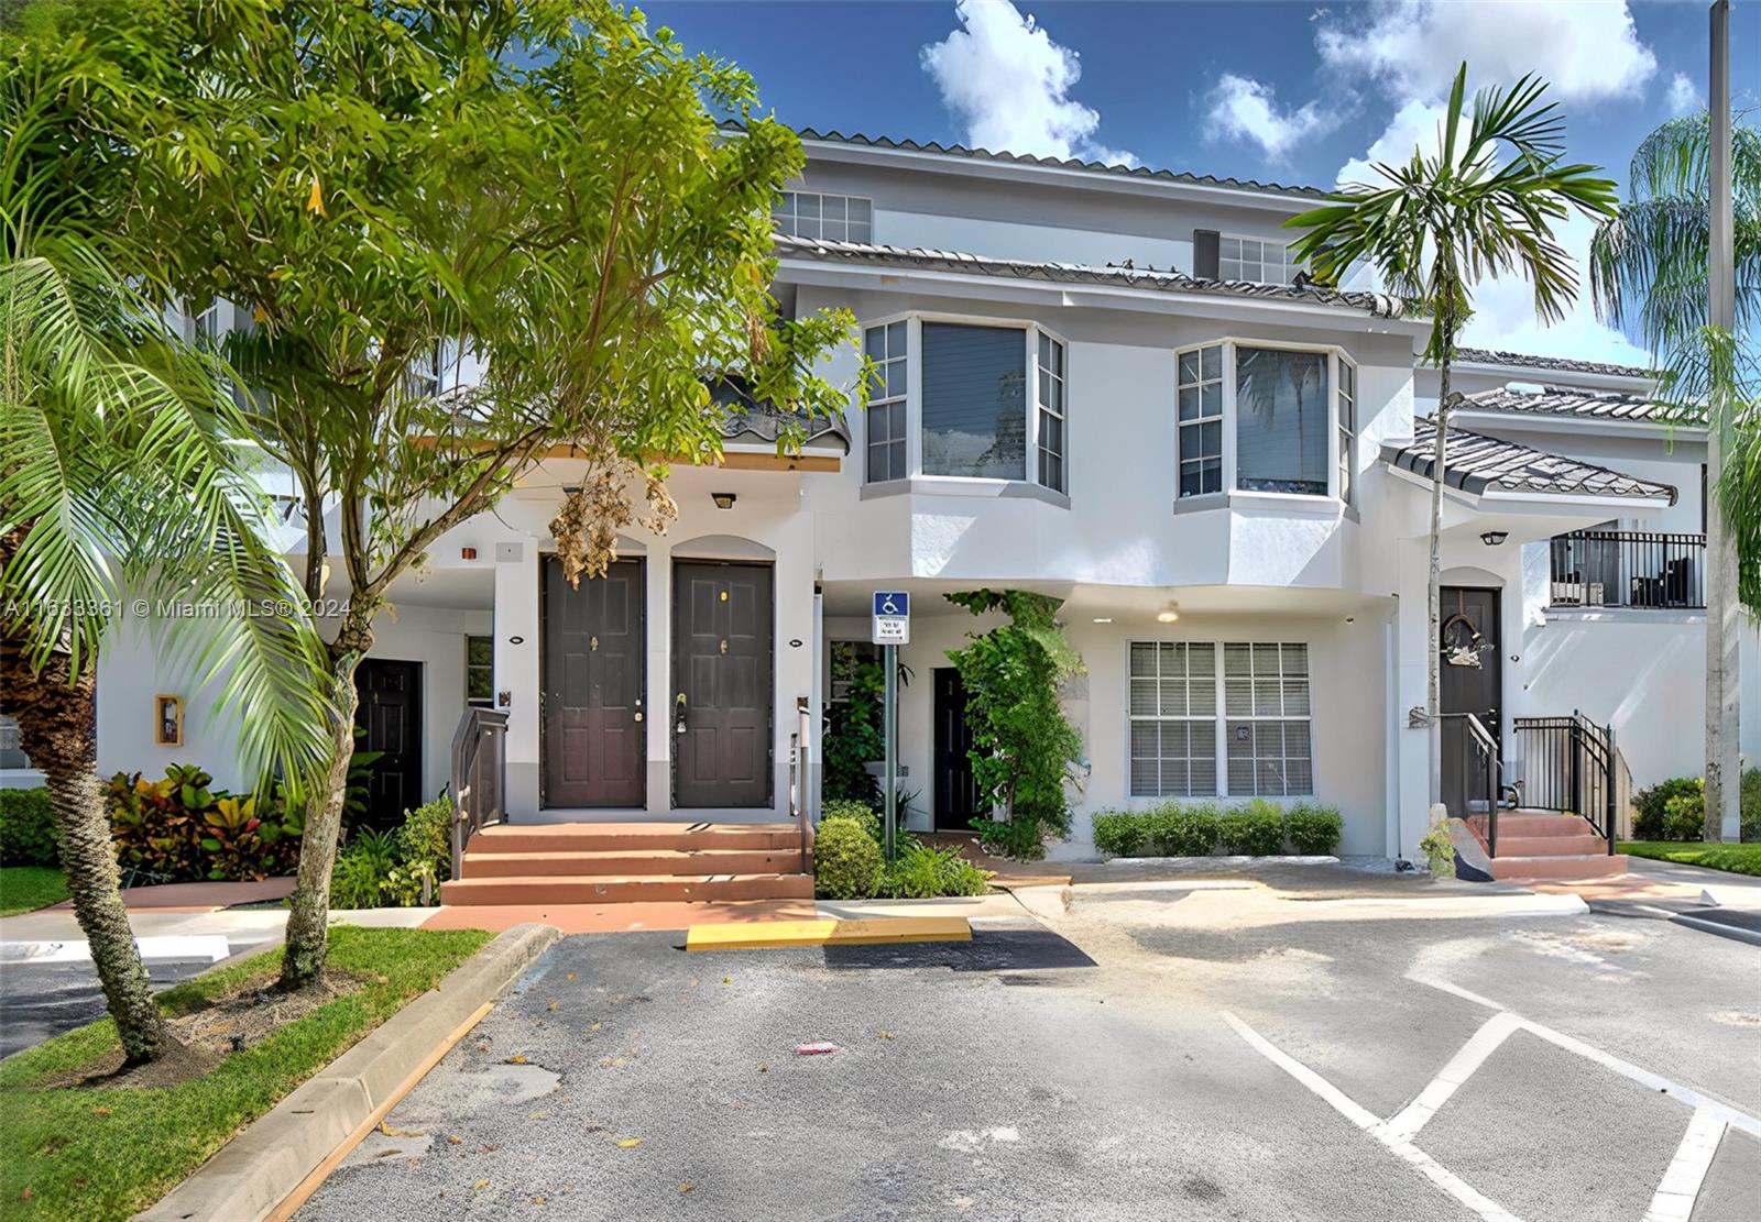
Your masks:
<svg viewBox="0 0 1761 1222"><path fill-rule="evenodd" d="M1083 69L1009 0L958 0L951 30L921 51L942 104L965 125L967 143L991 151L1083 157L1136 166L1094 139L1101 113L1069 97Z"/></svg>

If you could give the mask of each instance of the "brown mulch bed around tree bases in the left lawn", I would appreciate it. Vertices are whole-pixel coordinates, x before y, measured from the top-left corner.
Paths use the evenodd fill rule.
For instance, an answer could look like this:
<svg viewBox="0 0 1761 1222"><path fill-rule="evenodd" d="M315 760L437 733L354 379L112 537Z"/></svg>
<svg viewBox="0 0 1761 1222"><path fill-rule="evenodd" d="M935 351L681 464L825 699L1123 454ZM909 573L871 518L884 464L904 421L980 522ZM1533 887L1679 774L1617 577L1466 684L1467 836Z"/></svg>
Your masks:
<svg viewBox="0 0 1761 1222"><path fill-rule="evenodd" d="M262 1042L282 1027L329 1005L338 997L361 990L366 983L347 972L326 972L322 984L284 993L273 975L262 975L220 993L188 1014L166 1020L176 1044L146 1065L123 1067L123 1051L114 1048L79 1069L49 1074L39 1088L93 1086L104 1090L148 1090L176 1086L203 1078L231 1053Z"/></svg>

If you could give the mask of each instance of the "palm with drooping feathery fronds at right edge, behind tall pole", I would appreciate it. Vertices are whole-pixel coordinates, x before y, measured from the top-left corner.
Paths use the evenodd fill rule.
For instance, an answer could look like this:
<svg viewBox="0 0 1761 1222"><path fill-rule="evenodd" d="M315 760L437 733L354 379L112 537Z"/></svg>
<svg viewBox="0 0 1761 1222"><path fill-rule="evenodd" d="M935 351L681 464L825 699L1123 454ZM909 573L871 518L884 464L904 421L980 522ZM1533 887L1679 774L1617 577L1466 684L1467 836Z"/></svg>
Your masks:
<svg viewBox="0 0 1761 1222"><path fill-rule="evenodd" d="M1722 102L1719 102L1722 106ZM1590 243L1595 308L1650 349L1666 368L1661 396L1682 423L1705 423L1722 440L1713 460L1717 498L1706 539L1708 578L1736 569L1736 599L1761 613L1761 366L1752 338L1761 320L1761 132L1731 123L1731 255L1735 333L1708 326L1712 262L1712 114L1671 120L1632 153L1629 199ZM1708 437L1710 438L1710 437ZM1706 607L1706 840L1724 836L1735 801L1726 766L1731 731L1735 607L1708 579Z"/></svg>

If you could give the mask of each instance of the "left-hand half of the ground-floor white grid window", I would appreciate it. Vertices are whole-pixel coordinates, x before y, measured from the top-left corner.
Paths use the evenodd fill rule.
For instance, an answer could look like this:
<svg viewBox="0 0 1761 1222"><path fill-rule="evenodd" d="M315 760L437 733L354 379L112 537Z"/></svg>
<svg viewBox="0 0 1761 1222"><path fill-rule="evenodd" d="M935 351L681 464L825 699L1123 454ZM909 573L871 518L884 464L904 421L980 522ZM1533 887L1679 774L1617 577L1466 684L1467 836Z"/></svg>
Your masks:
<svg viewBox="0 0 1761 1222"><path fill-rule="evenodd" d="M1217 792L1217 646L1132 641L1131 792L1196 798Z"/></svg>

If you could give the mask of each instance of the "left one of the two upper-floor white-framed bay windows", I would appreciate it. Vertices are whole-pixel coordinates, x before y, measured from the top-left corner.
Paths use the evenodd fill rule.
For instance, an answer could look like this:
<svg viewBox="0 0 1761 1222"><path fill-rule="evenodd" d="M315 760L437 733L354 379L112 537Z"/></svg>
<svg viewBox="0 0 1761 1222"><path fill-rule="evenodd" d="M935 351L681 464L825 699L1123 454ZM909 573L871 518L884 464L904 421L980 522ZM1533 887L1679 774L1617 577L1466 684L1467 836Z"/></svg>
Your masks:
<svg viewBox="0 0 1761 1222"><path fill-rule="evenodd" d="M866 482L926 477L1067 491L1062 338L1027 322L907 315L866 326L863 350L873 368Z"/></svg>

